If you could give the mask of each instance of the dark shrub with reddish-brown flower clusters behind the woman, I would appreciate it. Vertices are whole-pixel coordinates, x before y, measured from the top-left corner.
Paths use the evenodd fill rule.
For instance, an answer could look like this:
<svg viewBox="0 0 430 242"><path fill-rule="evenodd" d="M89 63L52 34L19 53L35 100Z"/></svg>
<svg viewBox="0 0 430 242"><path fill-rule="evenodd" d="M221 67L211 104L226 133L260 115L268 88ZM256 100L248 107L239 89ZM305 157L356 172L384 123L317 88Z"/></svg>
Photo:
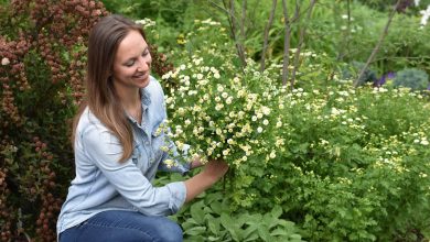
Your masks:
<svg viewBox="0 0 430 242"><path fill-rule="evenodd" d="M3 1L4 2L4 1ZM99 1L0 4L0 241L55 241L73 174L69 124L82 101ZM154 73L172 68L151 46Z"/></svg>

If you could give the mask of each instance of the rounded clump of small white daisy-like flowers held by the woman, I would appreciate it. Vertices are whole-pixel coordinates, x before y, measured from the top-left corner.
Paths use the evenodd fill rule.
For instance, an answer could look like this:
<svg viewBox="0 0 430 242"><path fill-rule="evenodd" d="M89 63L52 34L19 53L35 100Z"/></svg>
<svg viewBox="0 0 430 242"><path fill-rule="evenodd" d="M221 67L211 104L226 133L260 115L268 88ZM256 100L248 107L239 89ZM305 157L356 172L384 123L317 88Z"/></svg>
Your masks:
<svg viewBox="0 0 430 242"><path fill-rule="evenodd" d="M212 21L198 23L197 32L219 31ZM217 37L227 42L226 34L221 33ZM187 36L191 40L186 43L192 45L193 35ZM223 46L211 44L209 40L191 47L195 48L192 53L175 53L189 59L187 64L162 76L169 89L165 105L176 146L184 150L189 144L189 154L203 161L223 158L233 167L246 163L250 156L265 154L261 164L275 158L277 151L270 129L277 123L272 107L279 100L279 91L269 74L260 73L250 59L241 69L239 62L235 63L235 53L221 51Z"/></svg>

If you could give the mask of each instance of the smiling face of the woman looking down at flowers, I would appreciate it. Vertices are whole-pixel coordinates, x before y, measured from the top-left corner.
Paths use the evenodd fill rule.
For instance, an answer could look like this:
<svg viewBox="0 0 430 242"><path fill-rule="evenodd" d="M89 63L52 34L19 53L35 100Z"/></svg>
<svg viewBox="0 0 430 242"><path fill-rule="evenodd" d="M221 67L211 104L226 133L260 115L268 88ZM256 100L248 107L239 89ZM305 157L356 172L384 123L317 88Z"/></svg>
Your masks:
<svg viewBox="0 0 430 242"><path fill-rule="evenodd" d="M118 45L114 61L114 86L117 91L144 88L149 84L151 54L142 35L130 31Z"/></svg>

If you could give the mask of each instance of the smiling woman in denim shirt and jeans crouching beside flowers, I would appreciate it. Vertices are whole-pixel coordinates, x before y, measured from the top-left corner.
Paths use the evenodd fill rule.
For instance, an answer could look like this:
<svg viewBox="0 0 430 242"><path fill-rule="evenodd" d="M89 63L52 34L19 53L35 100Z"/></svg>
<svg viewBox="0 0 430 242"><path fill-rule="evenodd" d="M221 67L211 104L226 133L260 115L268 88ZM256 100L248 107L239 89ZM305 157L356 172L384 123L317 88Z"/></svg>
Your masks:
<svg viewBox="0 0 430 242"><path fill-rule="evenodd" d="M153 187L158 169L184 174L200 162L174 160L143 31L120 15L105 16L90 32L87 57L86 105L73 130L76 177L58 217L60 241L182 241L181 228L165 216L228 166L211 161L185 182Z"/></svg>

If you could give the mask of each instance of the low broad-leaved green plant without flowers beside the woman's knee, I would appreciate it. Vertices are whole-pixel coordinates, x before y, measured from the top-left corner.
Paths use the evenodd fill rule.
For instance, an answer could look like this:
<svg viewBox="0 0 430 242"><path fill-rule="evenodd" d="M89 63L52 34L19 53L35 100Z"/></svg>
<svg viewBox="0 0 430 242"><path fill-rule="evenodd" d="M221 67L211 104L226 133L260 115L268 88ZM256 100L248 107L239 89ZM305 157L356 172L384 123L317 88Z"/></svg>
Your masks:
<svg viewBox="0 0 430 242"><path fill-rule="evenodd" d="M163 185L171 179L178 177L160 177L157 183ZM280 218L281 207L265 213L234 211L226 193L218 185L172 217L182 226L184 241L302 241L297 226Z"/></svg>

